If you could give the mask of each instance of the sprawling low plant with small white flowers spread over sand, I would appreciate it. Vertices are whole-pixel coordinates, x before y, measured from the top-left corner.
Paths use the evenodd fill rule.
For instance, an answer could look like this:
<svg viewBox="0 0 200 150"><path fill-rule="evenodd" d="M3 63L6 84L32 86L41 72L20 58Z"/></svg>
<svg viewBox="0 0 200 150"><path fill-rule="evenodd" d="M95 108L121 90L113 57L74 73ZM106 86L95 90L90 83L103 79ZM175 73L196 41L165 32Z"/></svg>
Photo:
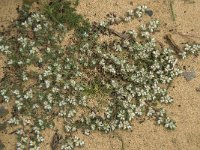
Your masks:
<svg viewBox="0 0 200 150"><path fill-rule="evenodd" d="M54 16L46 11L30 13L27 6L20 10L13 28L0 37L0 52L6 57L0 96L13 107L7 122L18 127L18 150L39 149L45 140L42 131L57 129L57 118L65 132L52 147L64 150L84 145L76 137L78 130L87 135L93 130L129 130L131 121L142 116L168 129L176 127L161 104L173 102L167 89L181 70L174 51L152 37L159 21L141 25L139 31L111 29L142 17L147 10L139 6L124 17L109 14L107 20L92 25L76 20L75 40L66 46L61 42L68 20L60 22L65 15L56 18L53 8L46 11L55 11ZM118 37L99 42L102 35ZM199 49L199 45L186 45L180 55Z"/></svg>

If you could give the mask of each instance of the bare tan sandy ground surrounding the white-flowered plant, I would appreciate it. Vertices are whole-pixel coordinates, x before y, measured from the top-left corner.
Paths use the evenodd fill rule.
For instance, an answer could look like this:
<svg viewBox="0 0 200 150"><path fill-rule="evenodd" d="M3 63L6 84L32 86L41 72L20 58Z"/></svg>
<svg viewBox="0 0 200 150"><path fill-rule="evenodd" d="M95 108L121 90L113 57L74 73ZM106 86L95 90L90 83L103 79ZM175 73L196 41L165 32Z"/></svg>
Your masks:
<svg viewBox="0 0 200 150"><path fill-rule="evenodd" d="M0 0L0 25L7 25L16 18L15 8L21 4L21 0ZM161 21L161 32L157 37L162 42L163 36L171 33L177 44L182 41L194 41L200 43L200 0L174 0L173 9L176 20L171 17L169 0L84 0L78 6L78 12L89 18L90 21L104 19L108 12L124 14L128 9L135 8L139 4L146 4L154 11L154 18ZM140 21L149 20L144 17ZM114 27L118 31L137 28L139 21L122 24ZM173 29L173 31L172 31ZM189 34L191 37L183 37L177 33ZM198 37L199 36L199 37ZM1 59L1 57L0 57ZM0 67L3 61L0 60ZM186 81L184 77L174 80L170 88L170 95L174 103L164 106L170 117L176 120L175 131L165 130L155 125L154 121L145 120L143 123L133 122L133 131L117 131L114 134L92 133L90 136L81 135L85 140L82 150L199 150L200 149L200 56L190 57L180 62L187 70L194 69L196 78ZM0 69L2 74L2 69ZM1 104L0 104L1 105ZM1 121L1 120L0 120ZM9 129L12 131L11 129ZM9 133L8 131L7 133ZM42 150L50 150L49 142L52 131L46 131L46 143ZM6 150L14 150L15 140L6 132L0 133L0 139L6 145Z"/></svg>

